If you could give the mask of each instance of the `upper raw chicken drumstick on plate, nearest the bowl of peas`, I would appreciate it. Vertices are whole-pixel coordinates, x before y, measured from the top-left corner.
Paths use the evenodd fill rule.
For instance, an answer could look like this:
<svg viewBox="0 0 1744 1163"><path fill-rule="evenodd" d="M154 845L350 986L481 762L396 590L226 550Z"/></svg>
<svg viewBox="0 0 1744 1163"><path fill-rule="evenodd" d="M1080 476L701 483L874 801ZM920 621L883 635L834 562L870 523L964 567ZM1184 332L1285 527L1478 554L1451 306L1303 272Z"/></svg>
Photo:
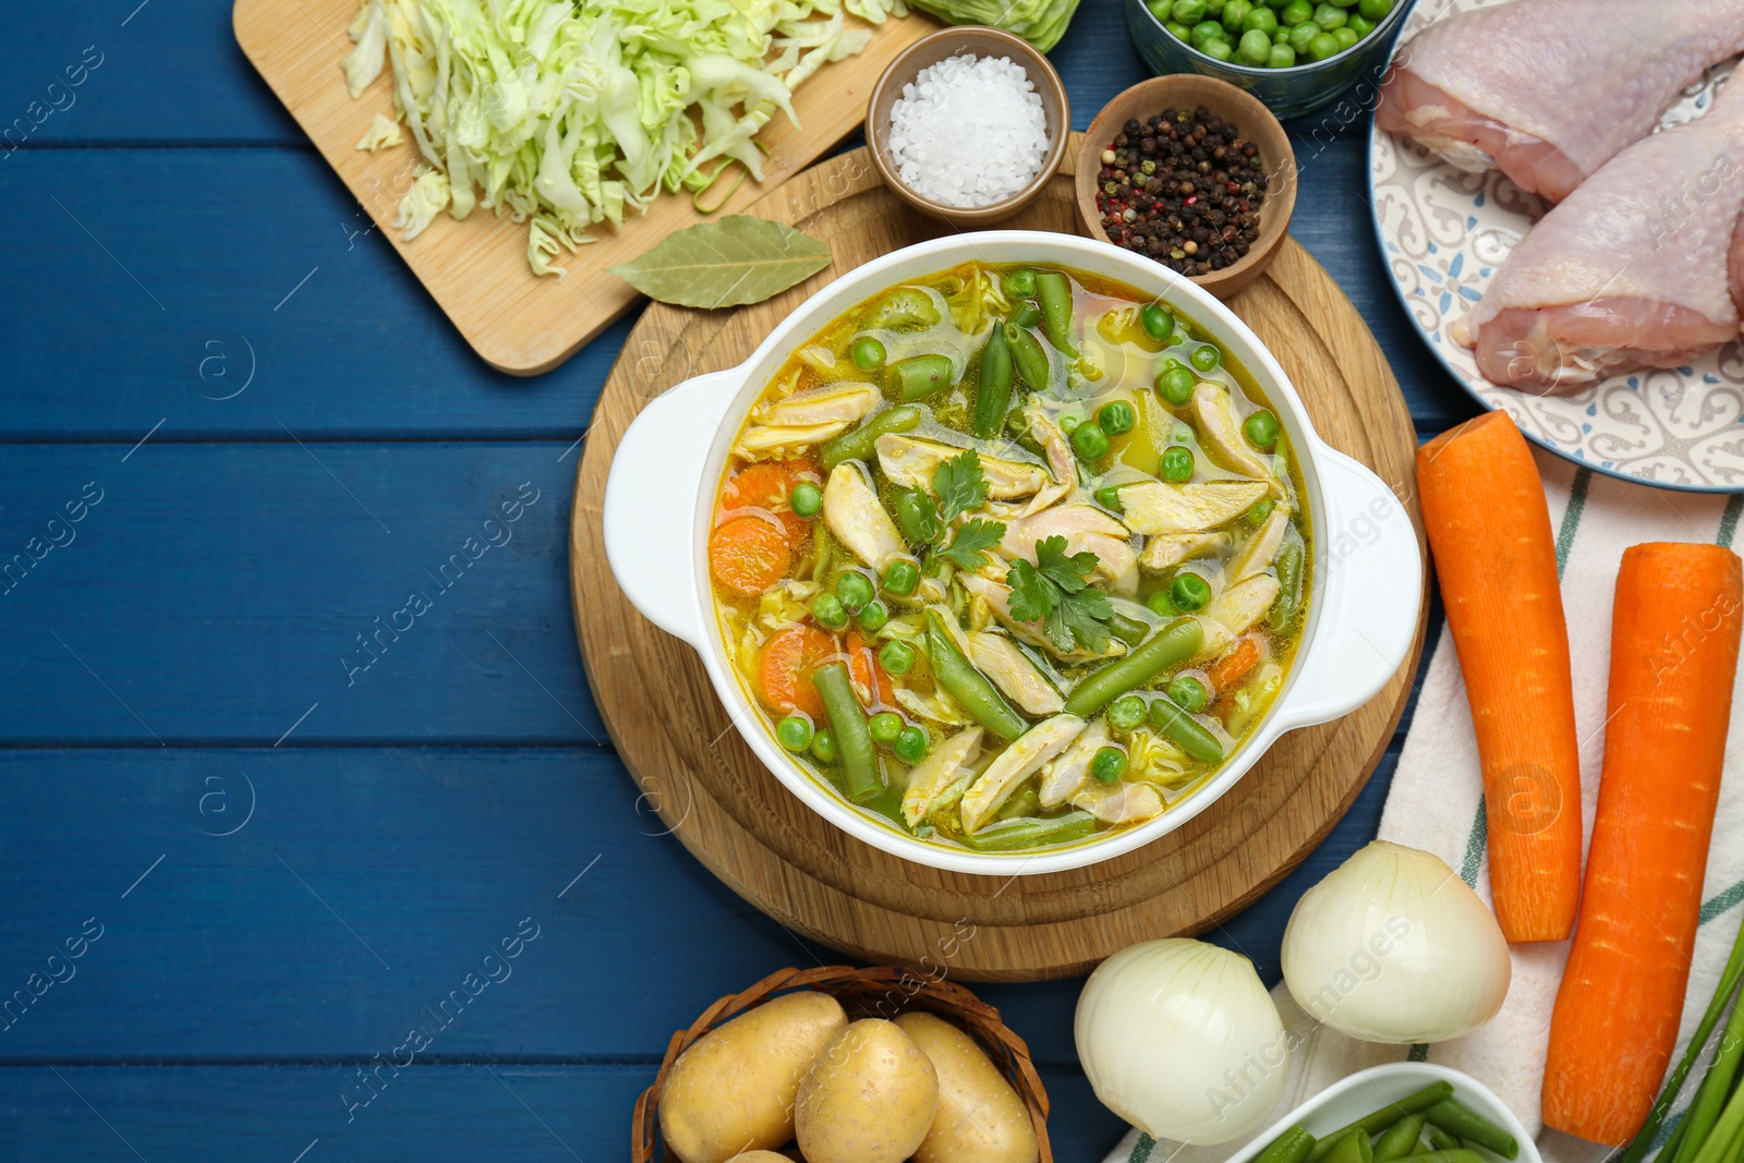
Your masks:
<svg viewBox="0 0 1744 1163"><path fill-rule="evenodd" d="M1514 0L1406 42L1374 120L1561 202L1741 49L1739 0Z"/></svg>

